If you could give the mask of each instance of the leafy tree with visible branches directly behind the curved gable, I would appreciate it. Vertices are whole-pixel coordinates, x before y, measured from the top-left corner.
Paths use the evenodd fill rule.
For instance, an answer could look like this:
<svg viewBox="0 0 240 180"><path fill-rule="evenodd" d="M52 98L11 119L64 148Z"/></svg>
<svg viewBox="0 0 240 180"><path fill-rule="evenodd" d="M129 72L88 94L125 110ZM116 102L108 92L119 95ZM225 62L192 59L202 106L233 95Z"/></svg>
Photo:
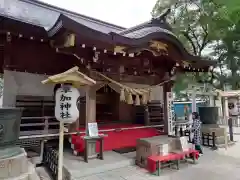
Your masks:
<svg viewBox="0 0 240 180"><path fill-rule="evenodd" d="M167 21L185 48L193 55L206 56L207 53L203 52L206 52L211 44L208 22L211 21L210 17L214 13L212 6L199 0L158 0L152 15L158 17L169 8L171 13ZM203 76L202 73L185 73L178 76L174 91L179 95L179 92L186 89L189 83L196 83L206 78L208 76Z"/></svg>

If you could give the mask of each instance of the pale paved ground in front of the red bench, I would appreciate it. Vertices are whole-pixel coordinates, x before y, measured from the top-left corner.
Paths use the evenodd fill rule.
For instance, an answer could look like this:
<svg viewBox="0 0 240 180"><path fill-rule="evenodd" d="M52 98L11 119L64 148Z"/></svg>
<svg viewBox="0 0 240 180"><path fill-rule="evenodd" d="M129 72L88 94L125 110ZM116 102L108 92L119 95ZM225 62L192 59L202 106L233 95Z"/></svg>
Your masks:
<svg viewBox="0 0 240 180"><path fill-rule="evenodd" d="M235 139L240 140L240 136ZM240 142L240 141L239 141ZM240 143L218 151L205 149L196 165L183 164L180 170L165 169L161 176L150 175L136 166L108 171L80 180L240 180Z"/></svg>

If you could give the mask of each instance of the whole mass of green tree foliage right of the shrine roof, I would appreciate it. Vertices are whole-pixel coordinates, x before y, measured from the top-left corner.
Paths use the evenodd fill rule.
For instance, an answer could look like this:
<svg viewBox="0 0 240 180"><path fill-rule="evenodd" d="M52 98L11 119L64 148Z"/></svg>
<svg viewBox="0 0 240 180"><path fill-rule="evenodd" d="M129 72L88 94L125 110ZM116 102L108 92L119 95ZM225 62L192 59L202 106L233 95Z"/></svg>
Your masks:
<svg viewBox="0 0 240 180"><path fill-rule="evenodd" d="M191 79L186 74L179 76L174 90L186 88L186 82L209 78L216 88L222 89L226 82L233 89L240 88L240 1L158 0L152 15L157 17L168 8L168 22L185 48L193 55L218 61L212 75L193 73Z"/></svg>

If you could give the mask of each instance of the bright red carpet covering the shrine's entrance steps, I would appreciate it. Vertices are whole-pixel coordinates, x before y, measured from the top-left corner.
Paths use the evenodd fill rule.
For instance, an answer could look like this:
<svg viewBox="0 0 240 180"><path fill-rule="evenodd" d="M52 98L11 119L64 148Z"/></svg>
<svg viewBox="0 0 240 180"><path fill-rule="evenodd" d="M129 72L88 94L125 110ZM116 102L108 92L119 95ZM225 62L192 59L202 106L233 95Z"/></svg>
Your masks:
<svg viewBox="0 0 240 180"><path fill-rule="evenodd" d="M135 125L134 124L102 125L99 127L99 130L139 127L139 126L141 125L136 125L136 124ZM85 131L85 128L80 128L79 130ZM104 151L120 149L124 147L135 147L137 139L159 135L159 133L155 128L131 129L131 130L123 130L120 132L111 131L111 132L104 132L104 134L108 135L107 137L104 138ZM84 136L84 135L81 134L81 136ZM72 144L74 144L74 149L77 152L84 151L84 141L80 136L72 135ZM96 151L99 152L99 143L97 143Z"/></svg>

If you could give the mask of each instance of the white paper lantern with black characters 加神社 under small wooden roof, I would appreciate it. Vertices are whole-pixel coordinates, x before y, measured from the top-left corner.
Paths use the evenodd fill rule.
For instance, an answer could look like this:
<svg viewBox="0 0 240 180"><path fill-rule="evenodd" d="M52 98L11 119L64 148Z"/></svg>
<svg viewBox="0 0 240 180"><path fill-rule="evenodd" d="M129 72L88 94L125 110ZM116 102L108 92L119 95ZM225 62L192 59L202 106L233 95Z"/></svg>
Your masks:
<svg viewBox="0 0 240 180"><path fill-rule="evenodd" d="M55 117L64 123L73 123L79 118L77 100L80 96L78 89L64 85L56 91Z"/></svg>

